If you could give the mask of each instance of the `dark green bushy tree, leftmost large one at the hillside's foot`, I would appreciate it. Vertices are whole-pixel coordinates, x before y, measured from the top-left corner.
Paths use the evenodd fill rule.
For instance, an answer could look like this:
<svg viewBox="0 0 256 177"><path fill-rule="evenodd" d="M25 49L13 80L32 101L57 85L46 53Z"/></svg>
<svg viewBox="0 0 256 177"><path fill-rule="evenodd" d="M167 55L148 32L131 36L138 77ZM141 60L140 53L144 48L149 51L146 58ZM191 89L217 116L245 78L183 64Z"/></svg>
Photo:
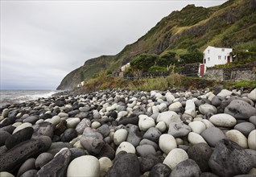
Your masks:
<svg viewBox="0 0 256 177"><path fill-rule="evenodd" d="M134 71L147 72L151 66L154 66L156 61L159 60L159 56L155 54L142 54L135 57L130 62L130 68Z"/></svg>

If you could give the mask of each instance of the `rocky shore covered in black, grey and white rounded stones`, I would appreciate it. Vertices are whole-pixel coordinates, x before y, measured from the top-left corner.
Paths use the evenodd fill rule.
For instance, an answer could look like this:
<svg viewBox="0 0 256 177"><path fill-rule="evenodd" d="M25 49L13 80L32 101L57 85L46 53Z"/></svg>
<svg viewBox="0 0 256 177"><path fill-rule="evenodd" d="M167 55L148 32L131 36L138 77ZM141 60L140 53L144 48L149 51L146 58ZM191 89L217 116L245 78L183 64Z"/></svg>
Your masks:
<svg viewBox="0 0 256 177"><path fill-rule="evenodd" d="M256 175L256 88L59 93L0 113L1 177Z"/></svg>

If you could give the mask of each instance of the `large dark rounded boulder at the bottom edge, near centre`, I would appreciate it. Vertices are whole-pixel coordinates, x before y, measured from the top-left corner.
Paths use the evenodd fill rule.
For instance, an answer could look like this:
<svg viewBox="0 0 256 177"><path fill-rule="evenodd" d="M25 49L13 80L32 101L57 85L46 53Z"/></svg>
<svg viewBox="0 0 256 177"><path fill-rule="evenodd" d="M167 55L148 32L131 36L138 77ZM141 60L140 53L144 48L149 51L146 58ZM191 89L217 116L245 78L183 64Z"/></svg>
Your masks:
<svg viewBox="0 0 256 177"><path fill-rule="evenodd" d="M107 177L137 177L140 176L138 158L127 153L120 156L109 169Z"/></svg>

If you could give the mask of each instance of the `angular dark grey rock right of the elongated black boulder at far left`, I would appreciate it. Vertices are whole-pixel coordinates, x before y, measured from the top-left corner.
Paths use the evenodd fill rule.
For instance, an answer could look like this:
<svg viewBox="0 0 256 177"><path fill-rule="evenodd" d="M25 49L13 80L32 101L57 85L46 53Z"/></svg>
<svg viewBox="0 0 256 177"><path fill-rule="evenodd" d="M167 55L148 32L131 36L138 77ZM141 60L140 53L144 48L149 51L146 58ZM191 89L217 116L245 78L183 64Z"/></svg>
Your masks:
<svg viewBox="0 0 256 177"><path fill-rule="evenodd" d="M34 134L32 135L32 138L39 138L40 136L47 136L52 138L53 132L54 132L55 126L47 121L43 121L39 124L35 124L33 126Z"/></svg>

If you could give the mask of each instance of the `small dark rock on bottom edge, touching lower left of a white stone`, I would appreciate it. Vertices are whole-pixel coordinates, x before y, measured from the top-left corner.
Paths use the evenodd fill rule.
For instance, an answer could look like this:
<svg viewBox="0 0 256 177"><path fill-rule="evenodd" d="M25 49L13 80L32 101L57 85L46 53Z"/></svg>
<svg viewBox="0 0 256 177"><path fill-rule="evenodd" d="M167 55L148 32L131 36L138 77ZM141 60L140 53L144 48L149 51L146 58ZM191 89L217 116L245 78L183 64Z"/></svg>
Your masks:
<svg viewBox="0 0 256 177"><path fill-rule="evenodd" d="M149 177L169 177L171 168L166 164L158 163L150 171Z"/></svg>

